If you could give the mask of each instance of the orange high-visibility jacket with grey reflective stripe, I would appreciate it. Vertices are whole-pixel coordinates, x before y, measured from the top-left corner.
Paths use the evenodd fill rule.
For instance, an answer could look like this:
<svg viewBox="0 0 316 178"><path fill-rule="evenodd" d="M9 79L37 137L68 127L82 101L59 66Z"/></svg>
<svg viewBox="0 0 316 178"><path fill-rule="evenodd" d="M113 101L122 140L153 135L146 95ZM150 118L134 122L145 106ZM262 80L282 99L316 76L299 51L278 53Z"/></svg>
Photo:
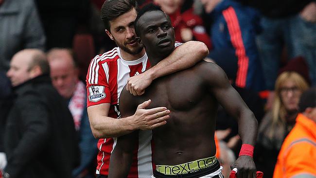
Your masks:
<svg viewBox="0 0 316 178"><path fill-rule="evenodd" d="M316 123L301 113L282 144L273 178L298 175L316 177Z"/></svg>

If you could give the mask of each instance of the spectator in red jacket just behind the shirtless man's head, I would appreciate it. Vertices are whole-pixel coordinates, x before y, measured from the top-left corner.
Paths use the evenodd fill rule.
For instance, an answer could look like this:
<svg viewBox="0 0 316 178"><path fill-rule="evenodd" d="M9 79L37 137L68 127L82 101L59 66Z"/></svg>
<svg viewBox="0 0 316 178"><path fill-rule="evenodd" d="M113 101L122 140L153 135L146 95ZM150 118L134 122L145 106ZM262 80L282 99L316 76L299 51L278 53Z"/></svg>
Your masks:
<svg viewBox="0 0 316 178"><path fill-rule="evenodd" d="M176 41L187 42L191 40L204 42L211 49L210 36L207 34L203 20L193 13L193 8L181 12L185 0L153 0L169 15L175 29Z"/></svg>

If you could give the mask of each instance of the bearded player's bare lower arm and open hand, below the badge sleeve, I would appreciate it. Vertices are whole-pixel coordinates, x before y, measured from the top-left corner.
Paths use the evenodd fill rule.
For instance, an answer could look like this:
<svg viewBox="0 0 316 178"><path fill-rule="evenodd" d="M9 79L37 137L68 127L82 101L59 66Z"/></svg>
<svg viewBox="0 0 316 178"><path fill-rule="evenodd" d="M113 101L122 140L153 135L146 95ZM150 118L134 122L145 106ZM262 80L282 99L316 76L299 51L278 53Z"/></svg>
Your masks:
<svg viewBox="0 0 316 178"><path fill-rule="evenodd" d="M170 111L166 107L145 109L151 100L136 106L135 114L121 119L108 117L110 104L88 107L88 116L93 136L97 139L119 137L134 130L153 129L166 124ZM128 103L127 103L128 104ZM126 115L125 115L126 116ZM158 119L158 123L156 121Z"/></svg>

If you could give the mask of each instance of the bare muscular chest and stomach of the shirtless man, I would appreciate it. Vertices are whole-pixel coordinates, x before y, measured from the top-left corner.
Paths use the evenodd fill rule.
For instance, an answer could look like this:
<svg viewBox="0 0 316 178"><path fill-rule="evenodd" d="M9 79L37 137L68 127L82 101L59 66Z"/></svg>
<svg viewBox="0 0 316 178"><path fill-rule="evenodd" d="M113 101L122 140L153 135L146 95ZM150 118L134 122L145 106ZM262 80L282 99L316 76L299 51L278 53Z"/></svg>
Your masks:
<svg viewBox="0 0 316 178"><path fill-rule="evenodd" d="M164 106L171 111L167 124L153 130L156 164L176 165L212 157L216 153L214 129L218 105L201 77L201 67L215 65L203 61L189 70L162 77L139 97L133 97L123 89L121 98L132 97L135 101L128 104L127 110L135 110L138 104L151 99L150 108ZM124 106L121 112L125 113Z"/></svg>

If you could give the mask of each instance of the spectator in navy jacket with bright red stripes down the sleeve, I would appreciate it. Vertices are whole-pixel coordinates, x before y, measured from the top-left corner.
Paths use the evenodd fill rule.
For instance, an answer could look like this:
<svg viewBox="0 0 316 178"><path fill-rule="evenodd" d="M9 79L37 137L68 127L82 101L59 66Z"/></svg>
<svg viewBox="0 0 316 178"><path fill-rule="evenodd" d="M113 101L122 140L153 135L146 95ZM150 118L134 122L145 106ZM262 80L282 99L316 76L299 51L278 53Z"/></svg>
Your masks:
<svg viewBox="0 0 316 178"><path fill-rule="evenodd" d="M234 0L200 0L211 24L213 50L229 49L237 56L235 85L262 91L263 73L256 46L259 14Z"/></svg>

